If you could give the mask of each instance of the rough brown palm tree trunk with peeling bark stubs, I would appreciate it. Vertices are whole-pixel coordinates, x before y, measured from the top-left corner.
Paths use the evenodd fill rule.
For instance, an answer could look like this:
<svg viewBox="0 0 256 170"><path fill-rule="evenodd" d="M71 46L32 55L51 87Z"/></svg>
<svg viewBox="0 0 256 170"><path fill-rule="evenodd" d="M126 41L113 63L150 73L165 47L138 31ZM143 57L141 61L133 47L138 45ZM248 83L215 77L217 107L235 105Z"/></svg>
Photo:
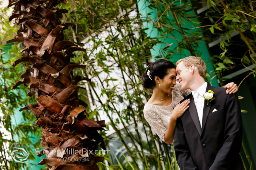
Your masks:
<svg viewBox="0 0 256 170"><path fill-rule="evenodd" d="M20 25L18 35L8 43L21 42L24 49L22 57L13 64L27 63L29 66L21 80L15 84L29 84L29 96L35 95L36 104L25 105L20 111L30 110L37 117L42 129L41 145L44 147L38 156L46 155L39 165L48 165L49 170L79 169L98 170L97 162L103 157L95 151L100 146L105 150L103 138L98 130L103 130L105 121L87 119L83 107L87 104L78 98L77 90L85 86L77 86L81 80L88 78L74 76L74 68L85 69L83 64L70 62L74 51L86 51L73 43L64 40L63 31L72 23L61 24L62 13L66 9L58 9L57 4L65 0L10 0L9 7L14 12L9 21L15 19ZM75 46L75 47L74 47Z"/></svg>

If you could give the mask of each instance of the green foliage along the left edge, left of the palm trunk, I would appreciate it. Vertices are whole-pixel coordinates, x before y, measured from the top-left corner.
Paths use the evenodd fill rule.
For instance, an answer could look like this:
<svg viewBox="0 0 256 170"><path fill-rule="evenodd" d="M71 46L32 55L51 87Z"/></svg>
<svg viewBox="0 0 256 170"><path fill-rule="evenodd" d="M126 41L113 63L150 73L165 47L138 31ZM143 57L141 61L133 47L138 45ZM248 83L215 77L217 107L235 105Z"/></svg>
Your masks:
<svg viewBox="0 0 256 170"><path fill-rule="evenodd" d="M39 135L40 128L34 124L35 116L28 111L19 112L18 110L26 103L35 103L34 98L29 98L26 94L25 86L19 86L16 90L12 89L16 82L20 80L20 74L25 70L26 65L19 64L15 68L13 62L21 55L18 53L20 44L6 44L6 40L12 39L17 31L13 23L8 21L9 8L0 9L0 169L14 170L29 168L29 163L13 163L10 154L13 147L26 147L29 151L29 160L36 159L35 148L40 147ZM23 118L22 120L20 120Z"/></svg>

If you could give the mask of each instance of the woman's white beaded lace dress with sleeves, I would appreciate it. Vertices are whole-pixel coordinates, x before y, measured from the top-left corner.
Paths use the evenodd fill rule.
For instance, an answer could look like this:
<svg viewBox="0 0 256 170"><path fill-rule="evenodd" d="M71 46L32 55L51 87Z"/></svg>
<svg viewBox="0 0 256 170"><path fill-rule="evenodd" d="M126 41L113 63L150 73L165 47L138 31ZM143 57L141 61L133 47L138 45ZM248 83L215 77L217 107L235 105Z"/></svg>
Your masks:
<svg viewBox="0 0 256 170"><path fill-rule="evenodd" d="M176 83L173 88L172 103L169 106L157 106L147 103L143 110L144 117L148 124L163 142L165 142L165 132L168 128L173 108L182 99L191 94L190 90L182 91L180 83Z"/></svg>

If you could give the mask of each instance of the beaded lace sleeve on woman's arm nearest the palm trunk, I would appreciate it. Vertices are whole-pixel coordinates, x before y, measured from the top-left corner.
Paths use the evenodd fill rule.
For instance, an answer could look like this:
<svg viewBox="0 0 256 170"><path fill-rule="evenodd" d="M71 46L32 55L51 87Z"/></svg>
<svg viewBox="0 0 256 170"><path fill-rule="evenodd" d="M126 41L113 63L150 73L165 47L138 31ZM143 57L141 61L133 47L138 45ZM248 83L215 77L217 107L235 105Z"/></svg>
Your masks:
<svg viewBox="0 0 256 170"><path fill-rule="evenodd" d="M143 110L144 117L150 127L155 131L158 137L165 142L165 133L167 129L163 126L162 120L159 115L154 111L155 106L146 104Z"/></svg>

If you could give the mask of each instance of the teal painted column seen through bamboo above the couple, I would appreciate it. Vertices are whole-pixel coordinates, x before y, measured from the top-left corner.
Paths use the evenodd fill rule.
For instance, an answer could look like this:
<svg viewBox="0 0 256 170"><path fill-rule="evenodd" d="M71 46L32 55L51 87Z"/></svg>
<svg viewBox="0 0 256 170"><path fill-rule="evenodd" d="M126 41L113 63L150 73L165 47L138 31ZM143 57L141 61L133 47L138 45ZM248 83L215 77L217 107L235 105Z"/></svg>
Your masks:
<svg viewBox="0 0 256 170"><path fill-rule="evenodd" d="M180 1L177 2L178 5L180 5ZM175 4L175 3L174 3ZM150 9L148 8L148 5L150 5L149 2L147 2L146 0L140 0L138 1L138 7L139 7L139 12L146 17L148 13L151 13L151 15L149 15L148 17L150 17L151 19L155 19L156 18L156 11L154 11L154 9ZM192 14L195 15L194 11L190 11L188 12L188 14ZM172 20L173 16L171 13L169 13L169 19ZM196 19L193 19L195 21L197 21ZM192 32L196 32L196 31L201 31L200 28L195 28L195 29L191 29L194 28L195 26L193 26L191 23L189 23L186 20L182 20L184 22L184 24L182 25L183 28L188 28L190 29L190 31L188 31L189 33ZM195 24L196 27L199 27L200 25ZM157 32L156 28L153 28L153 24L152 23L148 23L148 22L144 22L143 24L144 28L148 28L146 30L147 36L150 37L159 37L159 33ZM175 29L178 29L178 27L176 27L175 25L172 25ZM202 35L202 32L201 32ZM181 40L182 37L180 34L178 34L177 32L173 31L172 35L168 35L168 36L173 36L174 38L167 38L165 40L162 40L164 43L167 44L171 44L173 43L170 47L169 47L169 51L175 51L177 52L177 50L174 50L174 48L177 46L178 41L177 40ZM203 35L202 35L203 36ZM176 40L177 39L177 40ZM155 57L160 55L159 49L163 48L167 46L166 44L157 44L154 46L154 48L151 50L151 55L153 56L154 60L157 60ZM210 55L208 53L206 44L204 41L201 41L200 43L198 43L199 46L199 51L202 52L201 58L204 60L204 62L207 64L207 72L209 73L210 71L214 72L214 67L213 64L211 62L210 59ZM176 54L172 54L171 56L171 62L176 63L179 59L185 58L187 56L190 56L189 51L188 50L183 50L182 53L176 53ZM210 77L212 78L213 76L215 76L215 74L210 74ZM210 80L210 79L209 79ZM215 87L219 87L219 83L217 81L217 78L214 78L212 80L212 86Z"/></svg>

